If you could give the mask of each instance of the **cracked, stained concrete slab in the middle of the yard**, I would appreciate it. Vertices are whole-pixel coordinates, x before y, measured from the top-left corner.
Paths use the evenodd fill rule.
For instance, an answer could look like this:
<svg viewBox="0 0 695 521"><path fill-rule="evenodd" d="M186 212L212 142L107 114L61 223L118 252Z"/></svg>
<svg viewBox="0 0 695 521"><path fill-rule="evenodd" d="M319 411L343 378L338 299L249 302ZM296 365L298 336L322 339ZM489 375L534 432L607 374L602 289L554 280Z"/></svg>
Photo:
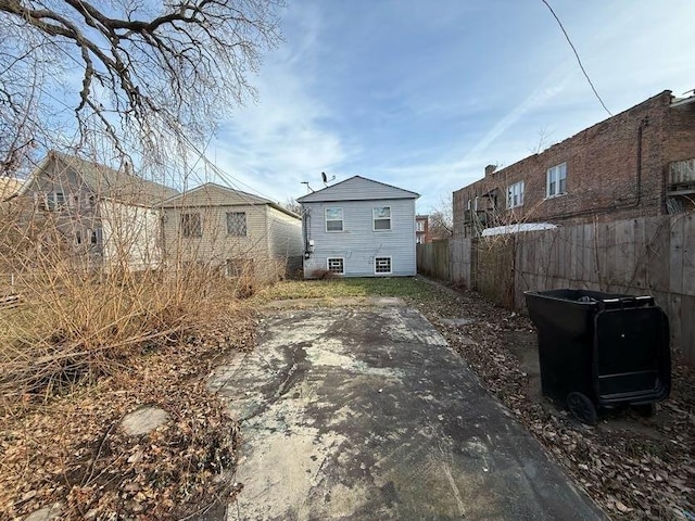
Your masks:
<svg viewBox="0 0 695 521"><path fill-rule="evenodd" d="M605 519L416 310L276 310L211 387L242 422L228 520Z"/></svg>

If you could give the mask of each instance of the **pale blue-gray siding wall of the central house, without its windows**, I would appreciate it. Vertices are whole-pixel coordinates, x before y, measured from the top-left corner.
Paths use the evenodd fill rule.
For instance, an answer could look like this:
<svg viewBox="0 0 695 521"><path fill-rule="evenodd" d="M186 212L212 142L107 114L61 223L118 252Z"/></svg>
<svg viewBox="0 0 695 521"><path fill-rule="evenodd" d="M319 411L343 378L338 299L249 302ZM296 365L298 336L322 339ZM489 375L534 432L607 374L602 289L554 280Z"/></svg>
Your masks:
<svg viewBox="0 0 695 521"><path fill-rule="evenodd" d="M372 208L378 206L391 207L390 231L374 230ZM314 241L311 256L304 262L306 278L325 271L328 258L333 257L344 259L345 277L383 276L375 274L377 257L391 257L392 272L388 276L415 276L415 199L302 202L302 207L306 239ZM343 208L343 231L326 231L325 211L329 207Z"/></svg>

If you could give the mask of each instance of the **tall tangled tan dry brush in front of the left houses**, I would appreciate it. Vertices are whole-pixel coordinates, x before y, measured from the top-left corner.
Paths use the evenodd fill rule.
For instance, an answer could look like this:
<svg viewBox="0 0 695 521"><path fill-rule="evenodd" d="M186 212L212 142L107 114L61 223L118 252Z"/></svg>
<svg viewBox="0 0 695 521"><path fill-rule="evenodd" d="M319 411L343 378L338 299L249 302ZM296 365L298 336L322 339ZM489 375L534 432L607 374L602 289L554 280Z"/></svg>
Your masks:
<svg viewBox="0 0 695 521"><path fill-rule="evenodd" d="M20 306L0 309L5 414L123 370L132 356L214 333L235 298L260 284L251 270L230 278L205 263L139 271L100 264L65 240L51 215L0 211L0 274L12 274L2 291L21 296Z"/></svg>

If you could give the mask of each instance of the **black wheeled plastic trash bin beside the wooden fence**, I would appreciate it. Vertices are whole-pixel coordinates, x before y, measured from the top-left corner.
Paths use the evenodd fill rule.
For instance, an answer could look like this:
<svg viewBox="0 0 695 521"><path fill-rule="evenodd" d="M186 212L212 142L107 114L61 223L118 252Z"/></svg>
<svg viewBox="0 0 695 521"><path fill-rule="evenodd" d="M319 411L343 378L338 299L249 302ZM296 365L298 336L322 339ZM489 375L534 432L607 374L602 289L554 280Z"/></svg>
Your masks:
<svg viewBox="0 0 695 521"><path fill-rule="evenodd" d="M669 323L652 296L586 290L525 292L539 333L543 394L587 424L597 407L652 412L669 396Z"/></svg>

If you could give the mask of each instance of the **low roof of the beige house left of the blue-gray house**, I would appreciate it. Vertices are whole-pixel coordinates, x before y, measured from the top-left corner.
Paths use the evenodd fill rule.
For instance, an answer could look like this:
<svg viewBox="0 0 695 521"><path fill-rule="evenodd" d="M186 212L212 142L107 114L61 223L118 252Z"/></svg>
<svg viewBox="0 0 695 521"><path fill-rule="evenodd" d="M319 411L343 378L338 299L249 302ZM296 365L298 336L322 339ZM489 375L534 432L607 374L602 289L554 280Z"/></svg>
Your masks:
<svg viewBox="0 0 695 521"><path fill-rule="evenodd" d="M192 190L179 193L165 201L162 201L160 206L163 208L174 207L192 207L192 206L257 206L268 205L283 214L300 218L294 212L280 206L269 199L261 198L252 193L243 192L241 190L235 190L233 188L223 187L215 182L206 182L200 187L195 187Z"/></svg>

